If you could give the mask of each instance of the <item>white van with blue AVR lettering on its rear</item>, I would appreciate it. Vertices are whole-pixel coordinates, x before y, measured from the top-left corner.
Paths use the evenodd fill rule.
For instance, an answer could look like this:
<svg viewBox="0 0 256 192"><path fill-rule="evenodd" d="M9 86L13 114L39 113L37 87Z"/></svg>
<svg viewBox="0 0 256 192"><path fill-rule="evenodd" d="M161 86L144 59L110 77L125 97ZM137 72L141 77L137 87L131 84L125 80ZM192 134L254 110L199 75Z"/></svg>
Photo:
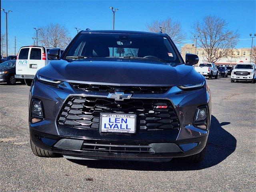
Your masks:
<svg viewBox="0 0 256 192"><path fill-rule="evenodd" d="M21 47L16 60L15 78L25 79L26 84L30 86L37 70L49 63L50 59L48 58L48 51L50 49L54 49L54 47ZM60 52L62 54L64 49L60 49Z"/></svg>

